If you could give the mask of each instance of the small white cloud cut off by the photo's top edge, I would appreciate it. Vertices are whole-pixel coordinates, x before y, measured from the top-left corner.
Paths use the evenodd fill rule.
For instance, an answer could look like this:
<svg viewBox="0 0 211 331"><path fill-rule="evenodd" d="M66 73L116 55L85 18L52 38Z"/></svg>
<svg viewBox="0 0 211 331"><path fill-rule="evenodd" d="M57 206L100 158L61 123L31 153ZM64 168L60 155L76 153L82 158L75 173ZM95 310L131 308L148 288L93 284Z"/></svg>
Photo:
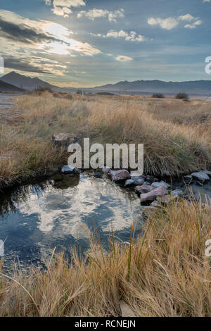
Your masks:
<svg viewBox="0 0 211 331"><path fill-rule="evenodd" d="M44 0L46 5L53 6L51 11L55 15L68 17L72 13L72 7L86 6L83 0Z"/></svg>

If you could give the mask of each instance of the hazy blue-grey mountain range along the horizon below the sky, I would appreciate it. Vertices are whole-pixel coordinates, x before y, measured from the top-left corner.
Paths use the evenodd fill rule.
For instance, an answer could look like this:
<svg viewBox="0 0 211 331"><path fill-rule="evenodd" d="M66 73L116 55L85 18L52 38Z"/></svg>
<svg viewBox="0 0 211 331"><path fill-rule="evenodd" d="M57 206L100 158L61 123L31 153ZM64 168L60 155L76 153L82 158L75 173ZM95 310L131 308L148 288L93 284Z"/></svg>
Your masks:
<svg viewBox="0 0 211 331"><path fill-rule="evenodd" d="M34 91L39 87L50 88L58 92L75 92L74 87L57 87L48 82L44 82L37 77L31 78L28 76L20 75L12 71L2 77L2 82L13 85L13 89L25 89L27 91ZM2 85L2 84L1 84ZM11 87L12 88L12 87ZM176 94L178 92L186 92L190 95L210 95L211 94L211 80L193 80L187 82L164 82L162 80L136 80L128 82L127 80L117 82L116 84L107 84L103 86L96 86L93 88L80 88L86 92L113 92L117 94ZM0 86L1 90L1 86ZM5 90L5 89L4 89Z"/></svg>

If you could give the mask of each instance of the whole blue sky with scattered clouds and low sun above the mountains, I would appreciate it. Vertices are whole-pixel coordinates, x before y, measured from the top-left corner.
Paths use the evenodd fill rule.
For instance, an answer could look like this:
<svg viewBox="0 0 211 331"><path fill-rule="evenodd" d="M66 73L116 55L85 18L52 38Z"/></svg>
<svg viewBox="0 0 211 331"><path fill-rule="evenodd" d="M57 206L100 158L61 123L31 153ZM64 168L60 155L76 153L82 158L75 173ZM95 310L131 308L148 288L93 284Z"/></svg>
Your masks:
<svg viewBox="0 0 211 331"><path fill-rule="evenodd" d="M210 80L211 0L1 0L0 56L60 87Z"/></svg>

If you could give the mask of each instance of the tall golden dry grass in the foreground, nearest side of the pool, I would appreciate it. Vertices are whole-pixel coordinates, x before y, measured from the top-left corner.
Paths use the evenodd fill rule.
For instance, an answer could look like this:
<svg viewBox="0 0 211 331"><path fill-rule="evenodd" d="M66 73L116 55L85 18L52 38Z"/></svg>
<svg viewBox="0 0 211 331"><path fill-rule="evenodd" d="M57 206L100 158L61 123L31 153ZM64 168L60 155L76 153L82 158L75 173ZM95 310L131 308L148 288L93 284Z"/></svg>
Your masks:
<svg viewBox="0 0 211 331"><path fill-rule="evenodd" d="M211 316L211 238L207 206L181 201L151 216L142 237L110 252L93 246L72 263L53 256L45 272L1 277L0 316Z"/></svg>

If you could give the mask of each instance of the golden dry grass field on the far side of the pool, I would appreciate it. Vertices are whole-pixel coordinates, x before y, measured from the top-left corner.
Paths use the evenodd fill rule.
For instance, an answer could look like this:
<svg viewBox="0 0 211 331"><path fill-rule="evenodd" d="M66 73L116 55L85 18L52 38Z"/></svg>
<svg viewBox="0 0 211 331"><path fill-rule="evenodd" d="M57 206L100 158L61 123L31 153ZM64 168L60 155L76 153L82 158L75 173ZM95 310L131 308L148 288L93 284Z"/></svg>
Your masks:
<svg viewBox="0 0 211 331"><path fill-rule="evenodd" d="M65 162L67 156L51 145L51 135L58 132L104 144L143 143L145 172L154 175L211 165L210 102L148 98L143 105L139 96L82 98L43 92L19 97L13 111L14 122L0 126L1 182ZM5 158L8 153L15 157Z"/></svg>

